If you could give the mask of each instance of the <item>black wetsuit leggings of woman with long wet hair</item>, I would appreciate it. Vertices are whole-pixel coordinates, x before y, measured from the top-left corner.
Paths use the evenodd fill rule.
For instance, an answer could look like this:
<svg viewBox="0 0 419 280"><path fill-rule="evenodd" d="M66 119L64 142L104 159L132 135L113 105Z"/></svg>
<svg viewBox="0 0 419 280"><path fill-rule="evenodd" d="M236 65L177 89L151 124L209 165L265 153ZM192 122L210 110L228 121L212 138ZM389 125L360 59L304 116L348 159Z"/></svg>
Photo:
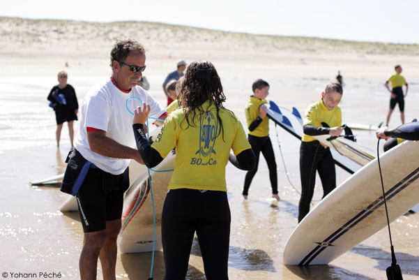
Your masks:
<svg viewBox="0 0 419 280"><path fill-rule="evenodd" d="M162 211L165 280L184 280L197 233L206 279L228 279L230 208L225 191L176 189Z"/></svg>

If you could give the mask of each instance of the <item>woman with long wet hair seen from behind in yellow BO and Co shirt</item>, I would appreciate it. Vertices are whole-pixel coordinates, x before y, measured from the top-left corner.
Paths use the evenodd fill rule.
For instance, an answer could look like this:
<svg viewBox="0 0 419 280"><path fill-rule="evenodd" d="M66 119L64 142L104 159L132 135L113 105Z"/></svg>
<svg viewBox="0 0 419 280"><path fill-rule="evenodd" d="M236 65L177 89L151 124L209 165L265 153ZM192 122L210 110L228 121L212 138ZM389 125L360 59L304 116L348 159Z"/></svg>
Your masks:
<svg viewBox="0 0 419 280"><path fill-rule="evenodd" d="M206 279L228 279L231 216L225 165L230 160L237 168L252 170L255 158L241 122L222 105L226 98L211 62L192 62L180 87L178 109L167 117L153 145L144 132L147 104L135 110L132 125L148 168L176 148L162 211L165 279L185 279L195 232Z"/></svg>

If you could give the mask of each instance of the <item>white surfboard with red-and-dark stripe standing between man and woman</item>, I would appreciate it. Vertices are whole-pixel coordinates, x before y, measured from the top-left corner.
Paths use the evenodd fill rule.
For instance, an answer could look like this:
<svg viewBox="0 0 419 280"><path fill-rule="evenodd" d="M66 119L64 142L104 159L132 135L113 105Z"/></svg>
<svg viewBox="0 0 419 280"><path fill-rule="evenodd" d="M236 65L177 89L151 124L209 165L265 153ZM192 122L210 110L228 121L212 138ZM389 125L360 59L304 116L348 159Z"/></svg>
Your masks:
<svg viewBox="0 0 419 280"><path fill-rule="evenodd" d="M162 249L161 216L163 203L172 177L176 154L170 153L150 171L155 210L155 250ZM153 205L148 183L148 172L144 172L125 193L122 212L122 228L119 246L122 253L153 251Z"/></svg>

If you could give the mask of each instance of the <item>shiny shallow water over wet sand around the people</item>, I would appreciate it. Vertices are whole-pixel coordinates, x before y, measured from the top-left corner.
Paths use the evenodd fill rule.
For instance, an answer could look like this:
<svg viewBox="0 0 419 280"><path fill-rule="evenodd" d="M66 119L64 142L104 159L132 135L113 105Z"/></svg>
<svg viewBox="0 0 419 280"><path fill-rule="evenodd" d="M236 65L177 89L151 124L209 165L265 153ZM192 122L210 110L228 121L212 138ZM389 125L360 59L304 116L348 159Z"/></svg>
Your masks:
<svg viewBox="0 0 419 280"><path fill-rule="evenodd" d="M243 79L243 80L242 80ZM73 77L79 102L91 87L90 78ZM157 80L157 79L155 79ZM272 82L271 82L272 80ZM278 80L272 78L271 95L278 105L295 106L303 114L307 105L320 97L327 80ZM153 82L153 79L151 79ZM344 122L378 125L385 119L388 94L381 80L345 80L340 107ZM243 108L247 101L244 78L223 79L229 108L244 121ZM248 82L247 82L248 83ZM63 214L59 206L66 200L56 187L33 187L28 184L63 172L63 159L70 143L66 125L61 135L61 148L55 147L54 112L47 106L46 96L54 79L34 77L23 82L14 78L0 79L0 272L62 274L63 279L77 279L78 258L82 246L82 226L77 213ZM158 83L151 84L151 94L159 101ZM153 91L153 89L155 91ZM243 95L245 98L243 98ZM406 120L418 117L415 105L419 101L418 84L409 88ZM399 124L395 110L390 125ZM75 123L76 126L78 123ZM268 169L264 160L250 189L248 200L241 197L245 172L227 165L227 186L231 208L231 242L229 254L230 279L386 279L386 267L391 263L388 231L383 229L329 265L287 267L282 264L282 252L289 235L297 224L300 190L298 169L299 142L282 128L271 124L271 140L278 166L280 202L270 198ZM374 133L358 131L358 142L376 149ZM289 172L287 180L282 164ZM382 144L381 144L382 145ZM349 177L337 168L337 184ZM314 193L316 203L322 196L317 178ZM393 244L404 279L419 277L418 227L419 214L402 216L392 223ZM118 279L146 279L151 265L151 253L119 253ZM155 253L154 279L164 274L162 252ZM101 272L98 272L100 279ZM57 277L58 278L58 277ZM194 242L187 279L205 279L199 244Z"/></svg>

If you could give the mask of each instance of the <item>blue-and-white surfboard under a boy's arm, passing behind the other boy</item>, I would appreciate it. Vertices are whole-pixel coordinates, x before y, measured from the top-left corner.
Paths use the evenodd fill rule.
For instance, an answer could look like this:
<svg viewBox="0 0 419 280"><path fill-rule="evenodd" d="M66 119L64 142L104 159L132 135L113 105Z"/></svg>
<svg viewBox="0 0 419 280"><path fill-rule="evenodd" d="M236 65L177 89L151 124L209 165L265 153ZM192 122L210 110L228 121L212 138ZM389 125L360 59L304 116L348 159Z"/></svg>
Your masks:
<svg viewBox="0 0 419 280"><path fill-rule="evenodd" d="M275 124L278 124L285 131L294 135L298 140L301 140L303 137L303 119L296 108L293 108L292 111L285 108L278 107L273 101L269 101L269 108L267 115L270 119L275 121ZM342 156L335 150L331 149L333 160L336 165L339 165L341 168L347 172L353 174L356 170L361 168L361 165L352 161L346 156Z"/></svg>

